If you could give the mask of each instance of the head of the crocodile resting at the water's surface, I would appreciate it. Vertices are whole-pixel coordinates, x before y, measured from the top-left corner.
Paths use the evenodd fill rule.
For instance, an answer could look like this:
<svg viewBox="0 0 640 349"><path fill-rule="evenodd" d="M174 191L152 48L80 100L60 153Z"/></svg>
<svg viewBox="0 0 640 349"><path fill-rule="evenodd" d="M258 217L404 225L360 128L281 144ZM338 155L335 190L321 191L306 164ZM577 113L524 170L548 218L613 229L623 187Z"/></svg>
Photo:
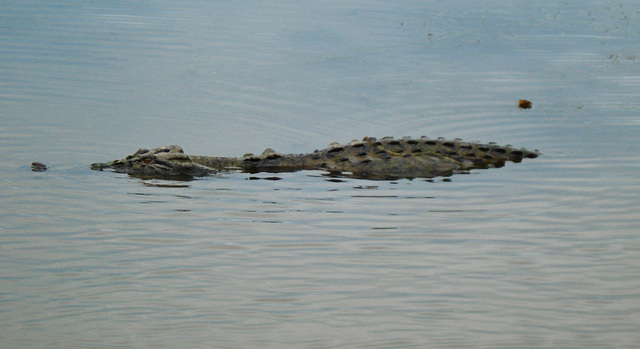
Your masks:
<svg viewBox="0 0 640 349"><path fill-rule="evenodd" d="M193 162L177 145L139 149L122 160L93 163L91 169L127 173L139 178L167 179L191 179L216 173L215 169Z"/></svg>

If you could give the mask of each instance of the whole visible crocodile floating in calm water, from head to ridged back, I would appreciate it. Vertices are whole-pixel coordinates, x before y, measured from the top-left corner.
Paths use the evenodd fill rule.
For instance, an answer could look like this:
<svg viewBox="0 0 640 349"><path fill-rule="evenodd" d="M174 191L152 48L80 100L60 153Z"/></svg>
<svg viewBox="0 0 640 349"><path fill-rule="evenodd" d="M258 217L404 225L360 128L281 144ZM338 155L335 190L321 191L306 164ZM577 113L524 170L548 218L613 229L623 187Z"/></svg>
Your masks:
<svg viewBox="0 0 640 349"><path fill-rule="evenodd" d="M309 154L279 154L267 149L262 155L245 154L238 158L186 155L182 148L171 145L140 149L125 159L95 163L91 168L143 178L176 179L229 170L249 173L323 170L331 176L366 179L432 178L502 167L506 161L520 162L538 155L538 151L459 139L365 137L346 145L333 143Z"/></svg>

